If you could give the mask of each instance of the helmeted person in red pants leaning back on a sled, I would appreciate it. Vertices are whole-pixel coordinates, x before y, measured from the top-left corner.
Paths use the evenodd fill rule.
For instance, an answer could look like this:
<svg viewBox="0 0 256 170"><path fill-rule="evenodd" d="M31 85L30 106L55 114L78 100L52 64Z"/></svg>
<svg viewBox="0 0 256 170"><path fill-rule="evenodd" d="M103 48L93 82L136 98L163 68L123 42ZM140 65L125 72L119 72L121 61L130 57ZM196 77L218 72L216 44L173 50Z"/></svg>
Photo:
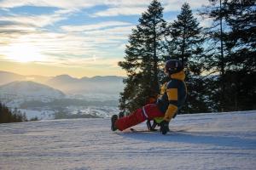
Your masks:
<svg viewBox="0 0 256 170"><path fill-rule="evenodd" d="M113 115L111 117L112 131L117 129L123 131L146 120L162 117L160 132L163 134L168 132L169 122L185 102L187 88L184 82L183 64L179 60L168 60L165 65L165 73L170 81L161 87L161 94L157 101L154 104L144 105L143 108L137 109L129 116L118 118L117 115Z"/></svg>

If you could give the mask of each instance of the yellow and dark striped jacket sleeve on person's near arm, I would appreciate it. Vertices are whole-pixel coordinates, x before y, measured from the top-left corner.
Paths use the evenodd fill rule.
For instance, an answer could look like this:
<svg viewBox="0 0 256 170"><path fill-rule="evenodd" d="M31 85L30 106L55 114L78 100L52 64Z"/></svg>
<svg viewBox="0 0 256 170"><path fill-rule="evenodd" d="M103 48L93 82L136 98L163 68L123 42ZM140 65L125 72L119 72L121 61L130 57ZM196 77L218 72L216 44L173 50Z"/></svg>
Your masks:
<svg viewBox="0 0 256 170"><path fill-rule="evenodd" d="M172 116L177 112L177 83L169 82L166 89L166 94L168 96L169 105L168 109L166 110L166 114L164 116L164 120L170 122Z"/></svg>

